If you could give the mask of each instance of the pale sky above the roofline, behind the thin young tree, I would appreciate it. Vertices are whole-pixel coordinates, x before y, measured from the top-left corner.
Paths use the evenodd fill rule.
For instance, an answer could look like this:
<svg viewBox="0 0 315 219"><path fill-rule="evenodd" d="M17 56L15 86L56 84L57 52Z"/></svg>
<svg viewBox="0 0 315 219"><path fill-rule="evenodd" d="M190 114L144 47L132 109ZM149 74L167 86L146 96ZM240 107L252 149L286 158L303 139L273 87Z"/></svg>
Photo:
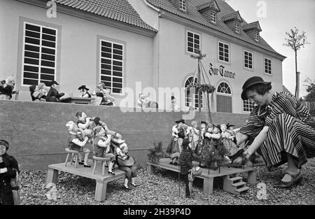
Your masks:
<svg viewBox="0 0 315 219"><path fill-rule="evenodd" d="M295 93L295 55L283 43L288 38L286 31L294 27L299 33L306 32L307 41L297 52L297 71L300 71L300 97L304 97L304 80L315 80L315 0L225 0L248 23L259 21L260 36L269 45L287 58L282 62L283 85ZM265 10L264 10L265 8Z"/></svg>

